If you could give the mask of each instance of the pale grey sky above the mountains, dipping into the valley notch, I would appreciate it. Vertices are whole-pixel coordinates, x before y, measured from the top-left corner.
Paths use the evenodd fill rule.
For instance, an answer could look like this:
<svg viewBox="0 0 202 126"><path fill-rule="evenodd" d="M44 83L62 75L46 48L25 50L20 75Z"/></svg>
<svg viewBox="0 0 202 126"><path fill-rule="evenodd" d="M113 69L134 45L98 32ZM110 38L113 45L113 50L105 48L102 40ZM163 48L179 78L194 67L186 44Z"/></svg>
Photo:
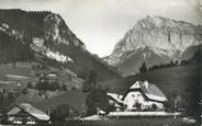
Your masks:
<svg viewBox="0 0 202 126"><path fill-rule="evenodd" d="M202 24L202 0L0 0L0 9L16 8L60 14L87 49L100 57L110 55L147 15Z"/></svg>

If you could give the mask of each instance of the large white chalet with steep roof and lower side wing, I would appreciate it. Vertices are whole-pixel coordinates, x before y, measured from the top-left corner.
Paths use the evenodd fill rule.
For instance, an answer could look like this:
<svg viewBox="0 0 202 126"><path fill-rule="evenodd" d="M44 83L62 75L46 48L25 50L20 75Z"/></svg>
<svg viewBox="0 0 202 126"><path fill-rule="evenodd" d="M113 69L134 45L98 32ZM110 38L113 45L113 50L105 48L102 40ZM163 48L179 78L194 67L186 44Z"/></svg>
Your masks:
<svg viewBox="0 0 202 126"><path fill-rule="evenodd" d="M136 81L124 95L108 93L116 111L164 111L165 94L148 81Z"/></svg>

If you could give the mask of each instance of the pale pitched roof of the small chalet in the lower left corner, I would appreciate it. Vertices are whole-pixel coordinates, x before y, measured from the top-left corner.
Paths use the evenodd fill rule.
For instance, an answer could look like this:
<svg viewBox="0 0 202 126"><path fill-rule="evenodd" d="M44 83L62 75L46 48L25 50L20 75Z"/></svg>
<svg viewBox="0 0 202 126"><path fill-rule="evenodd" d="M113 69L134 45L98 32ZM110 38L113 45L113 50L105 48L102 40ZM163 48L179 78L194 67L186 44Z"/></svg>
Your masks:
<svg viewBox="0 0 202 126"><path fill-rule="evenodd" d="M44 112L35 108L34 106L32 106L29 103L22 103L20 105L15 105L7 114L8 115L15 115L21 110L23 110L24 112L29 113L30 115L36 117L40 121L48 121L49 119L49 116L47 114L45 114Z"/></svg>

